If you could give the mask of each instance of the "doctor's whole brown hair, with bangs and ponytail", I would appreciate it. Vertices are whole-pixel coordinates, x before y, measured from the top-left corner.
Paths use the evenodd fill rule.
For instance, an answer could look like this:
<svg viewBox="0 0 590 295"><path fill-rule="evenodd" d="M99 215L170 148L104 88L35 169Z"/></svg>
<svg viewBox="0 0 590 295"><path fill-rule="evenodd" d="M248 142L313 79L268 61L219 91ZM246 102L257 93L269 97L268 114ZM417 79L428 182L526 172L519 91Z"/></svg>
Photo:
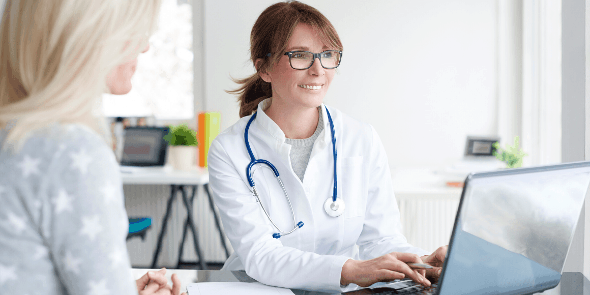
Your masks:
<svg viewBox="0 0 590 295"><path fill-rule="evenodd" d="M243 79L234 79L242 84L238 89L225 92L240 94L240 117L250 116L255 112L258 103L271 97L271 83L260 77L278 63L286 52L293 31L298 24L310 25L317 37L333 50L342 50L342 42L332 23L317 9L299 1L279 2L268 6L254 23L250 33L250 58L256 73ZM267 54L271 53L271 57ZM256 60L260 62L256 64Z"/></svg>

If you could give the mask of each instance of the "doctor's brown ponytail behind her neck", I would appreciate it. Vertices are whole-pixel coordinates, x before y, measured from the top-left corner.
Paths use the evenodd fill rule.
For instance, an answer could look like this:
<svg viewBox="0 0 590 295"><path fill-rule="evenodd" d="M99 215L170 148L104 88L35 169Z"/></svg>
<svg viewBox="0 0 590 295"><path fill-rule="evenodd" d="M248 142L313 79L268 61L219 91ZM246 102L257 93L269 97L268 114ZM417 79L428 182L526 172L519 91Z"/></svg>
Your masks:
<svg viewBox="0 0 590 295"><path fill-rule="evenodd" d="M225 90L230 94L240 94L240 117L250 116L258 108L258 103L273 96L270 83L262 80L258 73L244 79L233 79L235 83L242 84L235 90Z"/></svg>

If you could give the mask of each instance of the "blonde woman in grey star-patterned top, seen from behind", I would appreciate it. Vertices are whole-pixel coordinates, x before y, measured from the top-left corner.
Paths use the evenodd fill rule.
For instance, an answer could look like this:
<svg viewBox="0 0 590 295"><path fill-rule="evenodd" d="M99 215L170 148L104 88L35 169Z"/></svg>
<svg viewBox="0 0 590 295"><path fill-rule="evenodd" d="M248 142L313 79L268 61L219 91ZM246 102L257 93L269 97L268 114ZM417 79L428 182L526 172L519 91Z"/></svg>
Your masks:
<svg viewBox="0 0 590 295"><path fill-rule="evenodd" d="M12 0L0 22L0 290L178 294L130 273L100 96L124 94L159 0Z"/></svg>

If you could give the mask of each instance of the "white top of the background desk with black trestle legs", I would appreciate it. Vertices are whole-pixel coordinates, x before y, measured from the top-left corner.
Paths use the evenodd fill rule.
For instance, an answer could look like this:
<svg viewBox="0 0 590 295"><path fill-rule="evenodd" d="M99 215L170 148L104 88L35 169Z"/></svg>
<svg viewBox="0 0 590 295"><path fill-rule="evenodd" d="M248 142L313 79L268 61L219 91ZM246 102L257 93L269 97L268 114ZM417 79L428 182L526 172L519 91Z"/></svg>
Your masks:
<svg viewBox="0 0 590 295"><path fill-rule="evenodd" d="M121 171L123 184L143 185L205 185L209 183L207 168L194 166L188 171L164 168L124 167Z"/></svg>

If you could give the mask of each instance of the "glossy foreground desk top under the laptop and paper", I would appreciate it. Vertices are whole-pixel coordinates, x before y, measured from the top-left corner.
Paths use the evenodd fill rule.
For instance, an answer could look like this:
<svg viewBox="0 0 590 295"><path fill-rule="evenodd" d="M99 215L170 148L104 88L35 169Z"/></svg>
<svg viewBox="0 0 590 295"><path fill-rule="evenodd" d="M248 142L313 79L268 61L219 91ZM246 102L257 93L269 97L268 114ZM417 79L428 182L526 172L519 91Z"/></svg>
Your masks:
<svg viewBox="0 0 590 295"><path fill-rule="evenodd" d="M140 278L151 269L134 268L133 276ZM157 271L157 270L154 270ZM186 290L186 285L191 283L214 282L214 281L241 281L245 283L255 282L245 271L228 270L168 270L166 277L171 282L171 276L175 273L181 280L181 291ZM291 289L296 295L327 295L330 293L303 291ZM590 281L582 273L563 273L558 286L546 290L543 295L590 295ZM190 295L190 294L189 294Z"/></svg>

